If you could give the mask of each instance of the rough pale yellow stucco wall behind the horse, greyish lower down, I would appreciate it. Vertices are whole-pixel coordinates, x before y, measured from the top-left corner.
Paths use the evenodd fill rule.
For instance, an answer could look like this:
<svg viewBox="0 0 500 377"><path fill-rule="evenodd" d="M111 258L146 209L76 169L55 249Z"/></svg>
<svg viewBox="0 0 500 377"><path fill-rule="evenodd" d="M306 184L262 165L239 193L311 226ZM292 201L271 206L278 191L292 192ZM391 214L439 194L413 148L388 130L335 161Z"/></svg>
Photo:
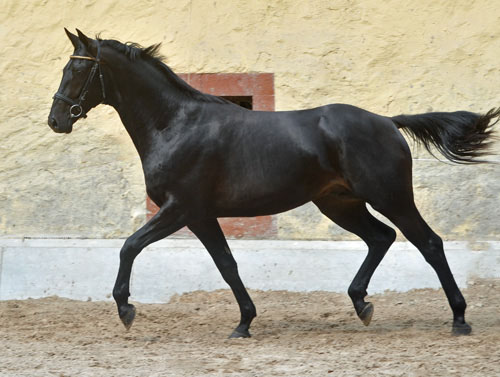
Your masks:
<svg viewBox="0 0 500 377"><path fill-rule="evenodd" d="M500 105L497 1L13 1L0 7L0 234L125 237L146 217L139 159L111 108L46 125L72 52L63 27L163 42L177 72L274 73L276 110L332 102L384 115ZM500 151L500 143L495 149ZM414 187L445 239L498 240L499 165L416 151ZM498 157L492 157L498 159ZM351 239L306 206L277 238Z"/></svg>

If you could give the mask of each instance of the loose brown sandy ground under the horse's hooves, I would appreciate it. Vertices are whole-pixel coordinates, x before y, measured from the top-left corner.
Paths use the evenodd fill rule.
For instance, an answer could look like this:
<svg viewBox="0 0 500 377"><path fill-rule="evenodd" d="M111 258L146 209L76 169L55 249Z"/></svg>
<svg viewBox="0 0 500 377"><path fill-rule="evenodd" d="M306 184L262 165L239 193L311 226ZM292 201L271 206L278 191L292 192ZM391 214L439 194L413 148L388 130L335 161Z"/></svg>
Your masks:
<svg viewBox="0 0 500 377"><path fill-rule="evenodd" d="M347 295L252 291L251 339L227 290L137 304L125 331L112 302L0 302L1 376L499 376L500 279L464 295L473 334L450 335L442 291L374 295L364 327Z"/></svg>

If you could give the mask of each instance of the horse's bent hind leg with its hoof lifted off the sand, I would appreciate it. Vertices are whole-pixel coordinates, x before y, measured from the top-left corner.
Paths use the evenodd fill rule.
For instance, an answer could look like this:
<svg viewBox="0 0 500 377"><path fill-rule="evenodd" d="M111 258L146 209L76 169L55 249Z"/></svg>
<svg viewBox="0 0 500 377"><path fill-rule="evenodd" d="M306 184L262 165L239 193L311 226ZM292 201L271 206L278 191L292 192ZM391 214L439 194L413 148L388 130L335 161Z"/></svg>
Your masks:
<svg viewBox="0 0 500 377"><path fill-rule="evenodd" d="M348 289L356 314L368 326L374 307L364 300L366 290L373 273L396 239L396 232L373 217L362 200L332 195L316 200L314 204L330 220L356 234L368 245L368 254Z"/></svg>

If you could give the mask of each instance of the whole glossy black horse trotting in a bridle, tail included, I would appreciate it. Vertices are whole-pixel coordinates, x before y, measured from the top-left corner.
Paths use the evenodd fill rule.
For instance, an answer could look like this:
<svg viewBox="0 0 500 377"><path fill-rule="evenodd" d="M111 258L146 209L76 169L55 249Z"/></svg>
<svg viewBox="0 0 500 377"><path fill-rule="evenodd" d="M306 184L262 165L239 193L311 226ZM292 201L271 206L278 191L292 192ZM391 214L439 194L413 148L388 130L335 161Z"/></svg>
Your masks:
<svg viewBox="0 0 500 377"><path fill-rule="evenodd" d="M162 63L159 45L142 48L77 31L66 30L75 50L54 95L49 126L70 133L91 108L113 106L139 152L147 193L160 207L120 252L113 297L127 329L135 317L128 303L134 258L152 242L188 226L238 301L241 321L231 337L250 336L255 306L217 218L275 214L312 201L368 245L348 290L365 325L373 314L373 305L364 301L368 283L396 237L368 212L369 203L436 271L453 311L453 334L470 333L465 300L443 242L413 201L411 154L398 129L453 162L480 162L476 158L490 143L490 121L500 110L392 118L343 104L250 111L187 85Z"/></svg>

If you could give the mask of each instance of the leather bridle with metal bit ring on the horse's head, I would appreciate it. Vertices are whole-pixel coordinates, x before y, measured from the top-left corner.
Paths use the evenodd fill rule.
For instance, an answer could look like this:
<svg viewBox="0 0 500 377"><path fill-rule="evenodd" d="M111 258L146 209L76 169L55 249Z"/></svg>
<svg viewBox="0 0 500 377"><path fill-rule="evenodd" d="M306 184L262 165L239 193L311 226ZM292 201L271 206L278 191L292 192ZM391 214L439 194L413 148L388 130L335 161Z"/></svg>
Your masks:
<svg viewBox="0 0 500 377"><path fill-rule="evenodd" d="M102 92L102 100L101 103L106 99L106 91L104 89L104 79L102 77L102 72L101 72L101 60L100 60L100 55L101 55L101 46L98 43L97 44L97 56L94 58L93 56L80 56L80 55L71 55L69 58L70 59L81 59L81 60L90 60L94 62L94 65L92 66L90 73L87 77L87 80L85 81L85 84L83 85L82 90L80 91L80 96L78 99L75 101L67 96L65 96L62 93L57 92L54 94L54 99L59 99L61 101L66 102L67 104L71 105L69 108L69 116L71 119L78 119L78 118L86 118L87 113L86 111L83 110L82 103L85 101L85 97L87 96L87 93L89 92L90 85L92 84L92 81L94 80L94 76L96 75L97 72L99 72L99 81L101 83L101 92Z"/></svg>

